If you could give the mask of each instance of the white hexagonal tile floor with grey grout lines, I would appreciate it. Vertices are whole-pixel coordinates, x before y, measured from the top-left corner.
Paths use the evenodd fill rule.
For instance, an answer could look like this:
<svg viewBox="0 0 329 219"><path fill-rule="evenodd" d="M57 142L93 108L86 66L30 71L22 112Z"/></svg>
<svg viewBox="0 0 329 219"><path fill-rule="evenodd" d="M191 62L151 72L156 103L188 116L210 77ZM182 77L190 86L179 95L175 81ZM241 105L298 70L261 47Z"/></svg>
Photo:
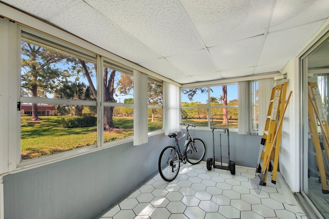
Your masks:
<svg viewBox="0 0 329 219"><path fill-rule="evenodd" d="M235 175L222 169L207 170L206 162L186 164L177 178L164 181L154 176L101 218L301 218L306 219L279 174L274 185L256 194L250 179L255 169L236 166Z"/></svg>

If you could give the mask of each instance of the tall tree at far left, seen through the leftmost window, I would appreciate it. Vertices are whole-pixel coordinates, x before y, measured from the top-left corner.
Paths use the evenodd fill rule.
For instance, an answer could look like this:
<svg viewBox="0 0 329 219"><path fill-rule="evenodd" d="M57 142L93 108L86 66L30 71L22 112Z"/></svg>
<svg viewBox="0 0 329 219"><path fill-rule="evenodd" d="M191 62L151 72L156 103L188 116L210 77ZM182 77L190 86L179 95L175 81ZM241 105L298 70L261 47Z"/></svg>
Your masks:
<svg viewBox="0 0 329 219"><path fill-rule="evenodd" d="M66 60L65 54L22 41L22 94L32 97L47 97L58 84L70 76L56 64ZM40 120L38 106L32 104L31 120Z"/></svg>

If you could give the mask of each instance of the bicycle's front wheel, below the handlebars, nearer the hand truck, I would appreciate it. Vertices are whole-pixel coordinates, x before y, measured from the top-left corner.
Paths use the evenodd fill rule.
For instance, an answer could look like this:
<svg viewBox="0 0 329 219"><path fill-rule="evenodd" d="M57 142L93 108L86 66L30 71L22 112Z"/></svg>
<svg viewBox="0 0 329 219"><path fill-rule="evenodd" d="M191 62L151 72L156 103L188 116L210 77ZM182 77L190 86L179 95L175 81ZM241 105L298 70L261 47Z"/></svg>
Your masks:
<svg viewBox="0 0 329 219"><path fill-rule="evenodd" d="M203 140L199 138L194 138L194 141L191 141L189 145L187 145L186 156L187 161L192 165L195 165L205 157L206 146Z"/></svg>

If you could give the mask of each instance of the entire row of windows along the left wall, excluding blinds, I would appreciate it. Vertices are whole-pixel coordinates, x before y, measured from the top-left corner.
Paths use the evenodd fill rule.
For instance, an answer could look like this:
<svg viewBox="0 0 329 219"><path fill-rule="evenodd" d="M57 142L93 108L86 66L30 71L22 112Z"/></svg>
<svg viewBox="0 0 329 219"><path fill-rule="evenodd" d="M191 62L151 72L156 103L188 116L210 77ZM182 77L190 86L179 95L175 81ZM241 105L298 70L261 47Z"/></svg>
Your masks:
<svg viewBox="0 0 329 219"><path fill-rule="evenodd" d="M21 63L21 160L132 140L132 68L25 28ZM162 82L155 78L148 101L149 132L162 131Z"/></svg>

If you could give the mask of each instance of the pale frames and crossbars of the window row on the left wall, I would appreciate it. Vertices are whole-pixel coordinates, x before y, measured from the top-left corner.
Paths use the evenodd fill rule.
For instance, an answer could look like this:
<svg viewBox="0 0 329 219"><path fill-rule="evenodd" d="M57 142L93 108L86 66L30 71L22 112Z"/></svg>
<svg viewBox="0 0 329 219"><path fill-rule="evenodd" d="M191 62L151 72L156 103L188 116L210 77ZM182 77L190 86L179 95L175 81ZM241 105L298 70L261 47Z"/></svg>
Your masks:
<svg viewBox="0 0 329 219"><path fill-rule="evenodd" d="M72 99L54 99L54 98L42 98L42 97L21 97L21 65L17 67L17 75L18 77L16 78L16 84L17 84L17 101L22 102L22 103L40 103L40 104L64 104L65 105L86 105L86 106L96 106L97 107L97 143L93 145L88 145L83 148L78 148L75 150L68 150L64 152L60 152L57 154L51 154L51 155L46 155L46 156L41 156L41 157L36 157L36 158L31 158L27 160L21 160L21 143L18 143L18 147L16 147L16 165L14 169L17 168L27 168L27 167L34 167L35 165L43 165L44 163L48 162L53 162L55 160L61 160L61 159L66 159L67 157L75 157L75 156L80 156L86 153L90 153L93 151L100 150L101 148L107 148L107 147L114 147L116 145L120 145L122 143L126 142L132 142L134 139L134 136L131 137L126 137L123 139L118 139L115 141L108 141L108 142L103 142L103 120L99 119L103 117L103 109L101 109L104 106L115 106L115 107L133 107L134 104L127 104L127 103L118 103L118 102L105 102L102 97L103 97L103 66L108 65L111 63L113 67L117 70L119 70L122 73L129 73L130 75L133 76L133 71L134 67L140 68L139 66L135 66L132 64L132 67L129 67L125 64L121 64L117 61L114 61L110 58L100 56L97 52L90 52L90 50L86 48L82 48L79 46L76 46L74 44L68 43L68 41L64 41L61 39L58 39L54 36L42 33L38 30L33 30L28 27L25 27L23 25L18 24L17 25L17 38L19 38L19 41L17 41L17 46L21 48L21 41L24 39L23 34L27 34L29 37L31 37L30 40L40 40L40 44L45 43L47 46L50 46L51 48L54 48L55 50L60 50L64 51L65 53L69 52L74 55L74 57L81 57L86 61L92 60L93 62L96 62L97 65L97 100L98 101L89 101L89 100L72 100ZM56 48L59 46L59 48ZM17 49L17 60L21 61L21 49ZM86 54L85 54L86 53ZM131 64L131 63L128 63ZM145 70L147 72L147 70ZM140 71L143 72L143 71ZM149 75L150 76L150 75ZM157 79L156 77L152 76L152 79L155 81L161 81ZM163 82L162 82L163 84ZM152 106L155 108L162 108L163 112L163 102L162 106ZM17 142L20 142L21 140L21 116L17 116L16 119L16 124L17 124ZM134 121L135 123L135 121ZM165 121L163 120L162 123L162 130L154 131L151 134L158 134L161 132L164 132L164 127L165 126Z"/></svg>

